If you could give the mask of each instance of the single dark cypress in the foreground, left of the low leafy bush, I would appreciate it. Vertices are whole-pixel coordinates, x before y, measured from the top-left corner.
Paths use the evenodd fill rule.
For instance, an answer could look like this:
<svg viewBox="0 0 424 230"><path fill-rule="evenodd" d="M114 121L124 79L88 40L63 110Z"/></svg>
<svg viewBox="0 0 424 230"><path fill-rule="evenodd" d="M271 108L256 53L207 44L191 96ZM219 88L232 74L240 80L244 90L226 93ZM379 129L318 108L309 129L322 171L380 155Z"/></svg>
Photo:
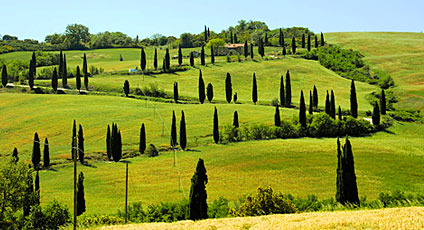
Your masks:
<svg viewBox="0 0 424 230"><path fill-rule="evenodd" d="M206 184L208 176L203 160L199 158L196 171L191 178L189 212L191 220L201 220L208 218L208 204L206 203Z"/></svg>

